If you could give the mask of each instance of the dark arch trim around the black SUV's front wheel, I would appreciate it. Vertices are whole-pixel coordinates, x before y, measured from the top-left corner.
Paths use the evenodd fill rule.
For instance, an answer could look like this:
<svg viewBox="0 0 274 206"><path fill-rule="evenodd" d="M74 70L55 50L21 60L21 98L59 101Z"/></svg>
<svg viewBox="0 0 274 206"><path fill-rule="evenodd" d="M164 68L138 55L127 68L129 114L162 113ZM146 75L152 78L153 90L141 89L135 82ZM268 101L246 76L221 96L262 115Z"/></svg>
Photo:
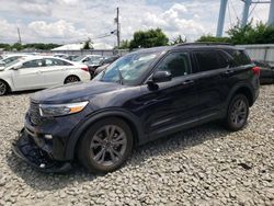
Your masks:
<svg viewBox="0 0 274 206"><path fill-rule="evenodd" d="M134 146L139 145L139 138L142 135L142 129L141 129L141 124L138 121L138 118L127 112L127 111L122 111L122 110L117 110L117 111L102 111L99 112L90 117L87 117L83 122L81 122L72 133L70 135L68 145L66 147L66 159L72 160L76 158L76 153L77 153L77 149L79 147L79 142L80 139L82 137L82 135L84 134L84 131L95 122L101 121L103 118L107 118L107 117L117 117L123 119L126 124L128 124L128 126L130 127L132 131L133 131L133 136L134 136Z"/></svg>

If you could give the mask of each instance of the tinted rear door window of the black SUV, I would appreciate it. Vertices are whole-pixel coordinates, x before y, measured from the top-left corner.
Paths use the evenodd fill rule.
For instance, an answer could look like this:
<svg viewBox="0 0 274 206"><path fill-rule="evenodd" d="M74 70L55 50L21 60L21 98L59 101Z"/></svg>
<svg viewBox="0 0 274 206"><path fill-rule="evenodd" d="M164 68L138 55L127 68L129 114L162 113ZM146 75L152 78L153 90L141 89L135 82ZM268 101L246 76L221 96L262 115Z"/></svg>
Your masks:
<svg viewBox="0 0 274 206"><path fill-rule="evenodd" d="M199 71L209 71L228 67L228 61L217 50L194 52Z"/></svg>

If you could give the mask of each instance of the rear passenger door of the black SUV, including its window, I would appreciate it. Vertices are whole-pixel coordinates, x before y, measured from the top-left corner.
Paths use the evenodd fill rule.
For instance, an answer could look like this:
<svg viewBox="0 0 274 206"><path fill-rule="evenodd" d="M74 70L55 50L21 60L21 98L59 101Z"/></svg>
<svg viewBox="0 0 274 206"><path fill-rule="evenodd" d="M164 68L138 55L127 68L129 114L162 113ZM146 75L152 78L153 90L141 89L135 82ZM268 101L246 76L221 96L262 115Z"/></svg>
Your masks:
<svg viewBox="0 0 274 206"><path fill-rule="evenodd" d="M197 73L201 121L222 115L230 91L228 81L233 77L228 59L217 49L194 50L193 57Z"/></svg>

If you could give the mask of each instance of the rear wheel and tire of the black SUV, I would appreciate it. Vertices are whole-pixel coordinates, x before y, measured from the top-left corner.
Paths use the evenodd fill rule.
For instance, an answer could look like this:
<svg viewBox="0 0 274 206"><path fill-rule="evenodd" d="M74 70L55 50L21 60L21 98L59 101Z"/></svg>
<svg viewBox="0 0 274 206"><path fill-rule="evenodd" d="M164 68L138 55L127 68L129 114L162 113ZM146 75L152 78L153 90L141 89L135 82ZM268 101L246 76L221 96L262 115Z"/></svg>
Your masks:
<svg viewBox="0 0 274 206"><path fill-rule="evenodd" d="M237 94L229 103L225 126L228 130L237 131L244 127L249 116L249 101L246 95Z"/></svg>

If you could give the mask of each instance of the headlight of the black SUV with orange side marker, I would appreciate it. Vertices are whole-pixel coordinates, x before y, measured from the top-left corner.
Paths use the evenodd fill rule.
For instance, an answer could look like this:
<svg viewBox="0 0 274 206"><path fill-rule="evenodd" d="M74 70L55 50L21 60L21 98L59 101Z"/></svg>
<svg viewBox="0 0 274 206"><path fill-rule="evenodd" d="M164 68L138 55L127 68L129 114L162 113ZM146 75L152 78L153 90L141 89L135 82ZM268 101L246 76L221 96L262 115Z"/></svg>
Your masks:
<svg viewBox="0 0 274 206"><path fill-rule="evenodd" d="M39 104L41 116L62 116L81 112L89 102L78 102L68 104Z"/></svg>

